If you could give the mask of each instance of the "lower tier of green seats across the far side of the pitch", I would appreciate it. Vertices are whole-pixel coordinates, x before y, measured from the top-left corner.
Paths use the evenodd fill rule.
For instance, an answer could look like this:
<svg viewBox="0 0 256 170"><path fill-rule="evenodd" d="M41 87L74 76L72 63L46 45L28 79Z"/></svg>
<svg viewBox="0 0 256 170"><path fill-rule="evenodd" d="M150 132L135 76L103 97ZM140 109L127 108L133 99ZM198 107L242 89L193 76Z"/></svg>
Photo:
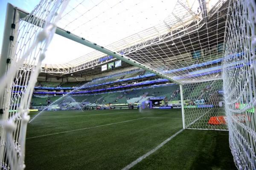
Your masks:
<svg viewBox="0 0 256 170"><path fill-rule="evenodd" d="M60 105L65 100L70 100L72 97L73 101L70 102L83 102L87 105L107 105L107 104L128 104L137 103L141 97L154 97L154 96L164 96L167 99L177 100L179 95L174 97L174 93L177 91L178 85L164 85L160 86L150 86L144 88L134 88L126 91L113 91L111 93L102 94L90 94L90 95L67 95L67 96L33 96L32 106L47 106L47 99L54 102L56 105ZM177 93L177 92L176 92ZM62 97L62 99L60 99Z"/></svg>

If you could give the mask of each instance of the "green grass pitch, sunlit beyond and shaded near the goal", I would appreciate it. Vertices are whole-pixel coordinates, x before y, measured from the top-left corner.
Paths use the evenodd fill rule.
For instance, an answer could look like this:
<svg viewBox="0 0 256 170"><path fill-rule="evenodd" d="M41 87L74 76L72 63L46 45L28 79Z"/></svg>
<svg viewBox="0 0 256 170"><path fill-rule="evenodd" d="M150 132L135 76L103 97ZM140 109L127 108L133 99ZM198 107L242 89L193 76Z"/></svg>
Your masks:
<svg viewBox="0 0 256 170"><path fill-rule="evenodd" d="M121 170L181 128L179 109L45 111L28 125L26 170ZM227 131L184 130L132 169L236 167Z"/></svg>

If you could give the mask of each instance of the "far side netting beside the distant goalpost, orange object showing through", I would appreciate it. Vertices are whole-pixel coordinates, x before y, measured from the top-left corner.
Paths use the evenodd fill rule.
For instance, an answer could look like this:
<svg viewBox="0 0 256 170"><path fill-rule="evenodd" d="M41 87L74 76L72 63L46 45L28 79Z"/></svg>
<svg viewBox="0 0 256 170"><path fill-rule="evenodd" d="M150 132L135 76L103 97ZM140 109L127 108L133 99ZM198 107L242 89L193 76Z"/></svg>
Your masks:
<svg viewBox="0 0 256 170"><path fill-rule="evenodd" d="M222 80L186 84L183 99L186 128L227 130Z"/></svg>

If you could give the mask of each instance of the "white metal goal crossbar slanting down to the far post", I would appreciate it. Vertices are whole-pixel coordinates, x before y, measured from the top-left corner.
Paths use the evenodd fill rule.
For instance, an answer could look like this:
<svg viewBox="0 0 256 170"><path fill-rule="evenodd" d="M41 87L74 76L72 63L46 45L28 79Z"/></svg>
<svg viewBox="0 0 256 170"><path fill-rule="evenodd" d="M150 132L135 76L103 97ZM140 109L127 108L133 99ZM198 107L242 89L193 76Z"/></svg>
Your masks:
<svg viewBox="0 0 256 170"><path fill-rule="evenodd" d="M17 8L17 10L19 11L20 18L26 17L29 14L29 13L27 13L27 12L21 10L21 9ZM34 22L34 23L37 23L37 22ZM137 61L135 61L133 59L129 59L128 57L125 57L124 55L118 54L117 52L108 50L108 49L106 49L106 48L104 48L104 47L102 47L100 45L97 45L96 43L93 43L93 42L90 42L88 40L85 40L82 37L79 37L79 36L77 36L75 34L70 33L68 30L64 30L62 28L57 27L55 33L58 34L58 35L61 35L62 37L66 37L67 39L70 39L70 40L73 40L73 41L78 42L80 44L83 44L83 45L85 45L87 47L93 48L93 49L95 49L97 51L100 51L102 53L105 53L105 54L108 54L110 56L113 56L116 59L122 60L123 62L127 62L128 64L131 64L131 65L137 66L139 68L142 68L142 69L144 69L146 71L149 71L149 72L151 72L153 74L156 74L159 77L168 79L168 80L170 80L172 82L175 82L177 84L181 84L180 82L177 82L175 79L172 79L171 77L168 77L168 76L160 73L157 70L151 69L148 66L143 65L142 63L137 62Z"/></svg>

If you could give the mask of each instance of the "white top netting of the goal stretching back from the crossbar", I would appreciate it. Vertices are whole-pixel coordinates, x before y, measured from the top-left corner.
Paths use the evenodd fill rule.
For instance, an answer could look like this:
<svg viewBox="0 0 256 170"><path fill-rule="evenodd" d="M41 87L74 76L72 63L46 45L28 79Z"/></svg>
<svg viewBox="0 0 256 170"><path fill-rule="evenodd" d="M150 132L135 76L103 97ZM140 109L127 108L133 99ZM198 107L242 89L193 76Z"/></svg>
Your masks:
<svg viewBox="0 0 256 170"><path fill-rule="evenodd" d="M58 26L112 51L119 51L179 82L205 80L205 76L214 79L221 72L228 3L226 0L208 1L208 11L200 9L198 0L72 1ZM159 20L170 11L167 18ZM149 22L145 22L147 20ZM104 24L103 31L99 23ZM154 26L148 23L154 23ZM111 31L106 34L104 30ZM126 37L128 35L131 36ZM102 53L94 51L67 65L81 65L81 62L100 56Z"/></svg>

